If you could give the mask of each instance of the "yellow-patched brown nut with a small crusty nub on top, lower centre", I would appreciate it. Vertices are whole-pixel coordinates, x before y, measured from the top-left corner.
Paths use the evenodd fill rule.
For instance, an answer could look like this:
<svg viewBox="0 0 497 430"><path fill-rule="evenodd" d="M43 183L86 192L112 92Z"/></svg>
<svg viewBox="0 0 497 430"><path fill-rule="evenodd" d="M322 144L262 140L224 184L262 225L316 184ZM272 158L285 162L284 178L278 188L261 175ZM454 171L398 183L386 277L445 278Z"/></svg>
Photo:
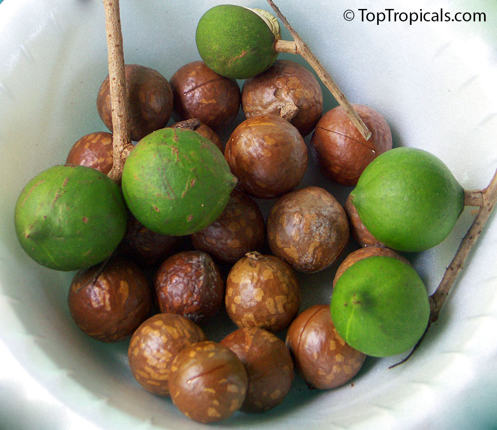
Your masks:
<svg viewBox="0 0 497 430"><path fill-rule="evenodd" d="M228 274L225 304L238 327L276 333L297 315L300 286L293 269L280 258L248 252Z"/></svg>

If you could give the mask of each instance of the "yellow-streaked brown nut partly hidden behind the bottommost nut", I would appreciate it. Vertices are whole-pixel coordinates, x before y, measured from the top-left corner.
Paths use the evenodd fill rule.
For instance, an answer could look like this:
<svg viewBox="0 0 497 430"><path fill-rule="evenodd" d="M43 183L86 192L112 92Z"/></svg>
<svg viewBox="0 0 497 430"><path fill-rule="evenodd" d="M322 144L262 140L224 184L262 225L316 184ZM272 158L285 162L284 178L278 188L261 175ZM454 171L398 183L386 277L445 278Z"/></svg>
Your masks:
<svg viewBox="0 0 497 430"><path fill-rule="evenodd" d="M136 329L128 348L131 373L140 385L158 396L169 395L172 360L184 348L206 340L202 329L177 314L157 314Z"/></svg>

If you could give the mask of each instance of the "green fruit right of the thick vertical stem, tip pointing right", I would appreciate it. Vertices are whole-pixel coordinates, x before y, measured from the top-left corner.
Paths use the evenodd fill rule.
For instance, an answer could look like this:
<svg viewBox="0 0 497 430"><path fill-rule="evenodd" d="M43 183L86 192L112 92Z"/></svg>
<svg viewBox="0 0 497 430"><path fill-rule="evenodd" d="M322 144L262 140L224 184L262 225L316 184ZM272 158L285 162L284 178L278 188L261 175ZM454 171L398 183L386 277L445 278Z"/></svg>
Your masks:
<svg viewBox="0 0 497 430"><path fill-rule="evenodd" d="M223 153L195 131L164 128L140 140L124 164L122 190L147 228L182 236L221 215L237 184Z"/></svg>

